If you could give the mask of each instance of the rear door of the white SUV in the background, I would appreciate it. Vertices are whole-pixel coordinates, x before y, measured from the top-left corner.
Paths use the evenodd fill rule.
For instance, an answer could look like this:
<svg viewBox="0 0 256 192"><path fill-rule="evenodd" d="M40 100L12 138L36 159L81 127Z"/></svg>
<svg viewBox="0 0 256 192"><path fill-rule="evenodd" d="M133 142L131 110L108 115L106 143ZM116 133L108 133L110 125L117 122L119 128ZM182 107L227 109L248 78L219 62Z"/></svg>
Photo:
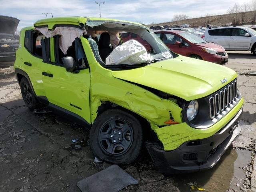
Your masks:
<svg viewBox="0 0 256 192"><path fill-rule="evenodd" d="M230 46L230 38L231 38L231 28L220 28L208 31L210 35L213 37L213 43L221 45L226 50L229 49Z"/></svg>

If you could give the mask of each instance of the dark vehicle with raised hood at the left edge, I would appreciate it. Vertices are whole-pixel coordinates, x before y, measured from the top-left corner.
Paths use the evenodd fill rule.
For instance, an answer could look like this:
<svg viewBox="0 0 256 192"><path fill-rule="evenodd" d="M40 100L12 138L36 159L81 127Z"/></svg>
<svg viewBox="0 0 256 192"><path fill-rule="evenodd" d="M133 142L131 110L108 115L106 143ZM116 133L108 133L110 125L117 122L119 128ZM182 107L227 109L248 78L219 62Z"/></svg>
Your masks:
<svg viewBox="0 0 256 192"><path fill-rule="evenodd" d="M0 16L0 62L15 61L19 46L19 37L15 32L19 22L14 17Z"/></svg>

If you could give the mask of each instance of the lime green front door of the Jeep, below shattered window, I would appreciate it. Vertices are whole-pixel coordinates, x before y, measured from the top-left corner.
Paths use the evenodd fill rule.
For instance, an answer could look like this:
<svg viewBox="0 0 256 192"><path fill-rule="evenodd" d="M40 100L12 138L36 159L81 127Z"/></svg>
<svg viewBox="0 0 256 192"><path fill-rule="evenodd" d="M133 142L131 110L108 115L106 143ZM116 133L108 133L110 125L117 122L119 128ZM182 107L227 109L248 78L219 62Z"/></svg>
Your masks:
<svg viewBox="0 0 256 192"><path fill-rule="evenodd" d="M58 47L58 36L55 37L55 62L42 65L42 79L46 97L53 107L82 117L90 124L90 70L80 39L76 38L67 54ZM72 56L78 64L77 72L67 72L61 58Z"/></svg>

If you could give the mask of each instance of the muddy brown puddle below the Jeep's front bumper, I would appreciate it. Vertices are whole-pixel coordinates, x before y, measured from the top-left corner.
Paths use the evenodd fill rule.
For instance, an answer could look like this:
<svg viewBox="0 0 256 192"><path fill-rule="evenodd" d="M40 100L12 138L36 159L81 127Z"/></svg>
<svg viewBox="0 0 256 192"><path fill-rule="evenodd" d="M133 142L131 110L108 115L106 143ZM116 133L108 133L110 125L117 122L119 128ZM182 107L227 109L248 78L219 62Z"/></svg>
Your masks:
<svg viewBox="0 0 256 192"><path fill-rule="evenodd" d="M190 192L187 183L197 183L205 189L204 192L224 192L229 188L240 192L243 178L242 167L251 160L251 153L247 150L228 149L216 166L210 170L175 176L180 192Z"/></svg>

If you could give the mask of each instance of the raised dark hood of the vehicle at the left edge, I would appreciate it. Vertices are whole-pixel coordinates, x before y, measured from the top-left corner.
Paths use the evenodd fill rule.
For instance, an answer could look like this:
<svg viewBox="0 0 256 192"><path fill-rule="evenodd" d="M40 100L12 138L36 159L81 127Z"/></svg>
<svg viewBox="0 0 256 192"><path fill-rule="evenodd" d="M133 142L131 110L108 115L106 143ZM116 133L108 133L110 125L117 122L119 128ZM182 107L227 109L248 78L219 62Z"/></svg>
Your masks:
<svg viewBox="0 0 256 192"><path fill-rule="evenodd" d="M0 16L0 34L13 35L20 20L14 17Z"/></svg>

